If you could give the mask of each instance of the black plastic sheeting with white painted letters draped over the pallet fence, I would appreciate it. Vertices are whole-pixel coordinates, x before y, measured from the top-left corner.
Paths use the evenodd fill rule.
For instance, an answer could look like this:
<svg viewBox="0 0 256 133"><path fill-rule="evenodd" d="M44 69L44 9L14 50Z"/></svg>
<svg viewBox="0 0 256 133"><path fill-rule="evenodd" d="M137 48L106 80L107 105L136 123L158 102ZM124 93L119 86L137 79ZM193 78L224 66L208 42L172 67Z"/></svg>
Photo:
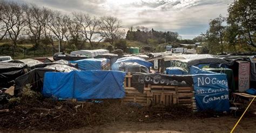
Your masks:
<svg viewBox="0 0 256 133"><path fill-rule="evenodd" d="M191 75L162 75L152 73L132 73L131 85L139 92L143 93L144 84L151 85L178 85L178 86L191 86L193 79Z"/></svg>

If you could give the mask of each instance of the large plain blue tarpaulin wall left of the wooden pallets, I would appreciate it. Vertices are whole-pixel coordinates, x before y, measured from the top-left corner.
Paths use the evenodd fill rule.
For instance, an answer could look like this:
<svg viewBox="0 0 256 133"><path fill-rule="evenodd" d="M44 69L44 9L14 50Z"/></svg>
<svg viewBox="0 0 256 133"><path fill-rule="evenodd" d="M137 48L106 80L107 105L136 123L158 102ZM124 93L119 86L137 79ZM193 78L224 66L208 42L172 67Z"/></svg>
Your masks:
<svg viewBox="0 0 256 133"><path fill-rule="evenodd" d="M125 72L71 71L46 72L43 95L63 99L116 99L124 98Z"/></svg>

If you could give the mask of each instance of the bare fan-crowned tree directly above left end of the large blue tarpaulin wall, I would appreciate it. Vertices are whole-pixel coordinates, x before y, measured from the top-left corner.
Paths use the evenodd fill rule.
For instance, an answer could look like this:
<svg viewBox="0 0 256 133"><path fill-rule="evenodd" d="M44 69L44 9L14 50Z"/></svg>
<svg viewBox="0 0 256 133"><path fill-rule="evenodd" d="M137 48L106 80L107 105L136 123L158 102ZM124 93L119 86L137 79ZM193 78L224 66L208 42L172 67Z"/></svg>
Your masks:
<svg viewBox="0 0 256 133"><path fill-rule="evenodd" d="M68 23L68 20L70 18L66 15L62 15L58 11L54 11L53 13L50 14L50 17L48 19L48 28L58 39L60 52L60 49L62 49L62 41L64 39L66 32L68 32L66 23Z"/></svg>

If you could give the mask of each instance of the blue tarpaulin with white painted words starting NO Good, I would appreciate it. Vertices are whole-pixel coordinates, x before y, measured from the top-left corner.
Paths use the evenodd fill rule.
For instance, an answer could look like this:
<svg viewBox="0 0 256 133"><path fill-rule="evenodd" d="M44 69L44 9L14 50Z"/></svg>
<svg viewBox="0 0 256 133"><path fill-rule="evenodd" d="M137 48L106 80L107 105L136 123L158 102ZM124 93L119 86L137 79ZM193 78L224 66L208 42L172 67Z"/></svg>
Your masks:
<svg viewBox="0 0 256 133"><path fill-rule="evenodd" d="M230 108L226 74L193 75L198 110L225 112Z"/></svg>

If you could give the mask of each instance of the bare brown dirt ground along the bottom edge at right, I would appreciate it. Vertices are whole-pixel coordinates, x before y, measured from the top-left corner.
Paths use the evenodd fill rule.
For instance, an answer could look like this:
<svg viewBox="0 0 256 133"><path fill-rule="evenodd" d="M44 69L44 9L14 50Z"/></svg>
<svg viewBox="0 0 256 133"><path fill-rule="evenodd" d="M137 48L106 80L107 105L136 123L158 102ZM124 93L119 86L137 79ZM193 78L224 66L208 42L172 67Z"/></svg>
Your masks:
<svg viewBox="0 0 256 133"><path fill-rule="evenodd" d="M156 123L123 122L80 128L59 132L230 132L239 118L233 116L212 117L196 120L177 120ZM256 115L243 118L235 132L256 132ZM6 131L2 131L6 132ZM15 131L17 132L17 131ZM46 132L24 130L18 132ZM58 132L58 131L56 131Z"/></svg>

